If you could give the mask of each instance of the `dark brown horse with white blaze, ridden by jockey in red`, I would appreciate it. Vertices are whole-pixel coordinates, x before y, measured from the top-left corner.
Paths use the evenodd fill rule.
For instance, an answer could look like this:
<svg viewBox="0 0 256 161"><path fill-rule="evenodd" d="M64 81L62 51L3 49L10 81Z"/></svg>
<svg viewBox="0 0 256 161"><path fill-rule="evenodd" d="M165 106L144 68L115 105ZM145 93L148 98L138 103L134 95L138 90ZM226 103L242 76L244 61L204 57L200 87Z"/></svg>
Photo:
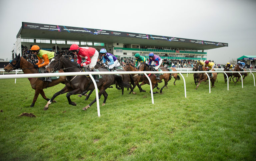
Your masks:
<svg viewBox="0 0 256 161"><path fill-rule="evenodd" d="M76 64L71 62L70 60L62 57L62 54L59 54L58 56L54 57L49 66L45 69L45 71L48 72L54 72L56 70L63 69L64 72L82 72L82 71L89 71L88 68L81 68L81 67L76 67ZM100 72L106 71L105 69L98 69ZM118 83L119 86L122 87L129 87L130 84L124 83L122 81L121 76L117 75L102 75L102 79L99 80L97 83L97 87L99 89L99 99L101 95L103 94L104 100L103 104L105 105L108 94L105 91L110 85L114 84L115 82ZM47 104L44 107L44 110L47 110L49 108L49 105L51 104L52 100L63 93L67 93L66 97L68 99L68 103L71 105L76 105L75 102L72 102L70 99L70 96L73 94L80 94L83 91L86 90L93 90L94 89L94 84L92 83L91 79L88 76L81 75L81 76L67 76L65 80L65 87L61 89L60 91L56 92L53 97L47 102ZM89 108L94 102L96 102L96 98L88 104L86 107L83 108L83 110L86 110Z"/></svg>

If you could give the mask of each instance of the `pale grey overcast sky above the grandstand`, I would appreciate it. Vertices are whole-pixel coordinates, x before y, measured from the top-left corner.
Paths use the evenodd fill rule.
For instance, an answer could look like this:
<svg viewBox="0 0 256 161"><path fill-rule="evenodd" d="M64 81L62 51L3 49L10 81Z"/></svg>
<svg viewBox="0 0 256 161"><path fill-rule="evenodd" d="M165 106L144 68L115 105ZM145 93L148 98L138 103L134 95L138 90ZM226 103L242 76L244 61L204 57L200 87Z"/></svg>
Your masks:
<svg viewBox="0 0 256 161"><path fill-rule="evenodd" d="M256 0L1 0L0 15L8 61L22 22L228 43L207 51L218 64L256 55Z"/></svg>

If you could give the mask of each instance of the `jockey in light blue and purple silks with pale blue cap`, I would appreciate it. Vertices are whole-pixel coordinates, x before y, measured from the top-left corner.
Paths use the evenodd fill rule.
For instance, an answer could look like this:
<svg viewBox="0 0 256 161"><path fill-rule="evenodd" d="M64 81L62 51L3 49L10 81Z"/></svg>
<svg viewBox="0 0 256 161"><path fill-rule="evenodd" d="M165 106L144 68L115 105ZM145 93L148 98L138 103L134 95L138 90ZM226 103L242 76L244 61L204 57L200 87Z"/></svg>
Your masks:
<svg viewBox="0 0 256 161"><path fill-rule="evenodd" d="M104 64L105 67L108 67L110 71L114 71L113 70L114 67L120 67L120 63L118 62L117 58L114 55L107 53L106 49L104 48L101 49L100 54L102 55L102 58L103 58L102 63ZM108 61L108 65L105 64L106 61Z"/></svg>

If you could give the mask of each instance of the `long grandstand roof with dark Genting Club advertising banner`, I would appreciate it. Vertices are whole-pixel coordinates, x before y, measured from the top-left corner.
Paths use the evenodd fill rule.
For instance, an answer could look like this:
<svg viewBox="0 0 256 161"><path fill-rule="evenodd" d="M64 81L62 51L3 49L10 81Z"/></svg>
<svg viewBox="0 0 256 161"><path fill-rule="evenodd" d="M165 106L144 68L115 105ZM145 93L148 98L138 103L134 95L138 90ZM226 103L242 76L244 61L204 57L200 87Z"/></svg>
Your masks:
<svg viewBox="0 0 256 161"><path fill-rule="evenodd" d="M196 50L208 50L228 46L228 43L205 40L128 33L102 29L37 24L29 22L22 22L22 27L17 34L17 38L19 36L22 38L138 44L145 46L186 48Z"/></svg>

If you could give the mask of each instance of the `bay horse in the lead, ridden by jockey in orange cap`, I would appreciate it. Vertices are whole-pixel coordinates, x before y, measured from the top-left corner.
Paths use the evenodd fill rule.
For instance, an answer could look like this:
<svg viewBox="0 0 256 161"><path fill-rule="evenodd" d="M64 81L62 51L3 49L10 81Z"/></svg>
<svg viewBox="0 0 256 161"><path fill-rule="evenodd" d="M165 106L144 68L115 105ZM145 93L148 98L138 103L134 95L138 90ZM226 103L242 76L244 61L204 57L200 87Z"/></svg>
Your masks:
<svg viewBox="0 0 256 161"><path fill-rule="evenodd" d="M39 69L34 68L34 65L29 63L25 58L20 57L20 54L18 56L17 56L17 54L15 54L15 58L11 61L10 64L8 64L4 68L5 72L10 72L15 69L21 69L24 74L39 73L39 71L38 71ZM63 70L60 70L59 73L63 73ZM50 99L45 96L43 89L57 85L59 83L64 84L65 78L66 78L65 76L62 76L62 77L59 77L59 79L57 79L57 80L52 80L52 82L42 81L39 78L28 78L28 80L30 81L31 87L33 89L35 89L34 98L33 98L33 101L32 101L32 104L30 105L30 107L34 107L39 93L42 95L42 97L45 100L49 101ZM54 101L54 102L56 102L56 101Z"/></svg>

